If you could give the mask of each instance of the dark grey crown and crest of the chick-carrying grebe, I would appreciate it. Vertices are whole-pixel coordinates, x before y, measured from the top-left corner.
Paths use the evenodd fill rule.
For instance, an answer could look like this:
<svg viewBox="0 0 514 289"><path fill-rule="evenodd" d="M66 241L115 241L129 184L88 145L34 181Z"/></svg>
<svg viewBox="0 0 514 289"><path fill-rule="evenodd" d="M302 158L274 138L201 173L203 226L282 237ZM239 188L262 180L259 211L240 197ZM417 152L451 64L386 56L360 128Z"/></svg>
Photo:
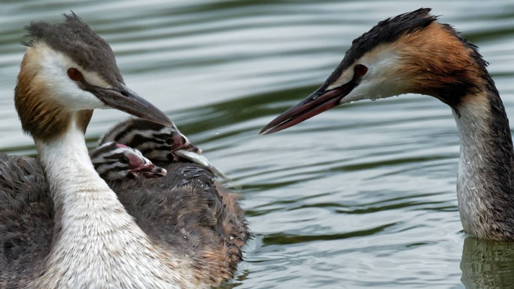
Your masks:
<svg viewBox="0 0 514 289"><path fill-rule="evenodd" d="M22 44L33 46L44 42L68 55L84 69L97 72L105 81L123 82L111 46L74 12L63 16L64 21L58 24L31 22L25 27L29 40Z"/></svg>

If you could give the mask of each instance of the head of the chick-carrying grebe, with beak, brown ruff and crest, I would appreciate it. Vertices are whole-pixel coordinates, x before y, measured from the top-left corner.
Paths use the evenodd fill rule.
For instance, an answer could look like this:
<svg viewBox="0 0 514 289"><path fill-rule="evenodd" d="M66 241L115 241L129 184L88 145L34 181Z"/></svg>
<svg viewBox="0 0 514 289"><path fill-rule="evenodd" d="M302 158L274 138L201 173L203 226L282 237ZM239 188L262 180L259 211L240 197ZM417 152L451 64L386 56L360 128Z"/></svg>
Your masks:
<svg viewBox="0 0 514 289"><path fill-rule="evenodd" d="M14 100L22 126L35 139L53 139L75 122L85 130L92 110L116 108L170 124L160 110L125 86L111 47L75 13L64 22L33 22Z"/></svg>

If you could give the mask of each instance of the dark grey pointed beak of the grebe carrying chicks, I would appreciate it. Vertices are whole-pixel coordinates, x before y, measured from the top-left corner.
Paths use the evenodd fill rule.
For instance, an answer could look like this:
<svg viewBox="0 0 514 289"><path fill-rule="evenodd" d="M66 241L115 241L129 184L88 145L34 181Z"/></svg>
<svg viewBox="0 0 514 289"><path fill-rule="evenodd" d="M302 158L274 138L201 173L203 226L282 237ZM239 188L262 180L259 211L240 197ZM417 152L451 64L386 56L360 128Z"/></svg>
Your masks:
<svg viewBox="0 0 514 289"><path fill-rule="evenodd" d="M86 90L95 94L96 97L107 106L154 123L173 125L166 114L121 82L118 82L118 87L113 89L102 88L89 84L85 84L85 86Z"/></svg>

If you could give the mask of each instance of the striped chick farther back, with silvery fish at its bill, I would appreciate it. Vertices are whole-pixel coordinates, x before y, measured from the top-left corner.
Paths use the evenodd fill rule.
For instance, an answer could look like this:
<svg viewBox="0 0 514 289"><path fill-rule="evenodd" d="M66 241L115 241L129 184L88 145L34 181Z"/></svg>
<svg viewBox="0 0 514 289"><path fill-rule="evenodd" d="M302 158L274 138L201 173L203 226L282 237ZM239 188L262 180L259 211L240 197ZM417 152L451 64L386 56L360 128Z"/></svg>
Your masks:
<svg viewBox="0 0 514 289"><path fill-rule="evenodd" d="M121 143L136 148L154 162L170 162L180 159L176 150L185 149L201 155L201 149L193 145L173 124L166 126L140 118L128 118L109 129L98 142Z"/></svg>

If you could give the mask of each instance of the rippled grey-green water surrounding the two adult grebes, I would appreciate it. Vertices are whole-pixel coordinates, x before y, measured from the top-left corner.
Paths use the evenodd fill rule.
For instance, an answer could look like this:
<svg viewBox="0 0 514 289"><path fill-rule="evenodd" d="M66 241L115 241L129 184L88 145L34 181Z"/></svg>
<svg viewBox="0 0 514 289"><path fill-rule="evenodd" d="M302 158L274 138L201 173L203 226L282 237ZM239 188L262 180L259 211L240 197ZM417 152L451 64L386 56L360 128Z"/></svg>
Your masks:
<svg viewBox="0 0 514 289"><path fill-rule="evenodd" d="M424 6L481 47L512 119L511 1L3 1L0 151L35 153L12 101L22 27L71 9L111 43L128 86L242 186L255 238L226 286L511 288L514 244L461 232L458 139L439 101L359 102L257 136L355 37ZM95 112L88 144L122 118Z"/></svg>

